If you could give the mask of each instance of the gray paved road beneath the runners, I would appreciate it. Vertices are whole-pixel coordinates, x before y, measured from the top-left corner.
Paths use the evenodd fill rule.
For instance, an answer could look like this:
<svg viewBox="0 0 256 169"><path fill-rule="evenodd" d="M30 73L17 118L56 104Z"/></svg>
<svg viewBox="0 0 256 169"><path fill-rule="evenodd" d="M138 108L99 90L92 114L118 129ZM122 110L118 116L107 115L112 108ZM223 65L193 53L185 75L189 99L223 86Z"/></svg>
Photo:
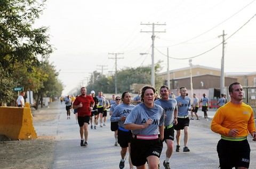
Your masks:
<svg viewBox="0 0 256 169"><path fill-rule="evenodd" d="M107 126L98 127L97 130L89 129L88 147L85 148L80 146L79 127L76 124L75 115L72 114L71 120L67 120L65 105L52 103L49 106L49 111L58 112L58 119L34 125L38 136L57 136L58 143L52 168L119 168L121 148L114 146L114 132L110 131L109 116ZM209 111L209 116L212 117L214 113ZM198 114L202 116L203 112L199 111ZM201 121L204 121L202 117ZM171 168L218 168L216 146L220 139L219 134L202 128L196 120L190 122L188 143L190 152L174 152L170 160ZM181 137L183 138L183 134ZM250 166L256 168L256 142L251 140L249 137L252 159ZM181 139L181 145L183 145L183 139ZM176 143L174 143L175 146ZM165 159L165 151L166 145L160 158L161 168L164 168L162 163ZM129 168L127 161L125 168Z"/></svg>

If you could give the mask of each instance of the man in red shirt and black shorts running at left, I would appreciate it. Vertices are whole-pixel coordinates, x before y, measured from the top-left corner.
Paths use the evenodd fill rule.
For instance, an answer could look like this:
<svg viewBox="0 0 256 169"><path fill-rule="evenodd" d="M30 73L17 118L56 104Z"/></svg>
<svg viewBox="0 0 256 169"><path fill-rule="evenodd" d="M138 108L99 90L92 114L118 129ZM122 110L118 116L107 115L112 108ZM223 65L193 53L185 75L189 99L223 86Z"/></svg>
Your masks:
<svg viewBox="0 0 256 169"><path fill-rule="evenodd" d="M88 126L90 124L91 110L94 106L92 96L86 95L86 88L81 88L81 95L78 96L74 103L73 108L77 109L77 120L80 127L81 146L87 146L88 139Z"/></svg>

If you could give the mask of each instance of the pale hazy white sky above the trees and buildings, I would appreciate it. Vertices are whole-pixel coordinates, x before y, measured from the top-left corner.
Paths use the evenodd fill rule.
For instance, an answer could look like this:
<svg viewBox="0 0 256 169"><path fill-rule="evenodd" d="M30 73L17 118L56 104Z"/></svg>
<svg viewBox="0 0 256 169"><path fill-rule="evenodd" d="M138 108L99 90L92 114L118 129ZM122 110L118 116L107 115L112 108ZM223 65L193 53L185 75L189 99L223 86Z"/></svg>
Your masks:
<svg viewBox="0 0 256 169"><path fill-rule="evenodd" d="M170 70L188 67L189 57L197 55L194 65L220 69L218 36L223 30L225 72L255 72L255 9L255 0L48 0L35 27L50 28L50 43L56 48L50 62L60 70L62 95L67 95L82 83L86 86L95 70L114 73L114 55L108 53L124 53L118 55L118 70L151 65L152 34L141 31L152 27L141 23L166 24L155 26L155 31L165 31L155 33L155 63L164 61L161 72L167 69L167 47L173 57Z"/></svg>

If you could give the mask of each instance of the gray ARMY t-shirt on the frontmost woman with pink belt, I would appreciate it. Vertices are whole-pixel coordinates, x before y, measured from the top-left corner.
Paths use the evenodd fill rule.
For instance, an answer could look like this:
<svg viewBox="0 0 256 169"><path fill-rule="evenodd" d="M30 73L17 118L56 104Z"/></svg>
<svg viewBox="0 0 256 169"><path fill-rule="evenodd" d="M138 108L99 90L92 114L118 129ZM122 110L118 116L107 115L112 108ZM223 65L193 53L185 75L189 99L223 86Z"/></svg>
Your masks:
<svg viewBox="0 0 256 169"><path fill-rule="evenodd" d="M152 108L148 108L144 103L141 103L132 109L131 113L126 117L124 124L143 125L148 119L152 119L153 122L146 129L132 130L132 133L140 135L159 134L158 126L164 124L164 109L157 104L154 104Z"/></svg>

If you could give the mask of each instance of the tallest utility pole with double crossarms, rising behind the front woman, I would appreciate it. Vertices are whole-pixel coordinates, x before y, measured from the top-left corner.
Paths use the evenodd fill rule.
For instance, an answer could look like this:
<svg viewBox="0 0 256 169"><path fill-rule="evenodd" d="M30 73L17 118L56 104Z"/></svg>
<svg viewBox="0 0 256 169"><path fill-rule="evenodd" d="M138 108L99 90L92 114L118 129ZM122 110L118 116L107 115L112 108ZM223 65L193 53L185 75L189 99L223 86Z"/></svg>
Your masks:
<svg viewBox="0 0 256 169"><path fill-rule="evenodd" d="M155 87L155 63L154 63L154 41L155 41L155 33L157 32L165 32L165 31L155 31L155 25L161 26L161 25L166 25L165 23L141 23L141 25L151 25L152 26L152 31L140 31L140 32L150 32L152 33L151 39L152 39L152 65L151 65L151 86Z"/></svg>

